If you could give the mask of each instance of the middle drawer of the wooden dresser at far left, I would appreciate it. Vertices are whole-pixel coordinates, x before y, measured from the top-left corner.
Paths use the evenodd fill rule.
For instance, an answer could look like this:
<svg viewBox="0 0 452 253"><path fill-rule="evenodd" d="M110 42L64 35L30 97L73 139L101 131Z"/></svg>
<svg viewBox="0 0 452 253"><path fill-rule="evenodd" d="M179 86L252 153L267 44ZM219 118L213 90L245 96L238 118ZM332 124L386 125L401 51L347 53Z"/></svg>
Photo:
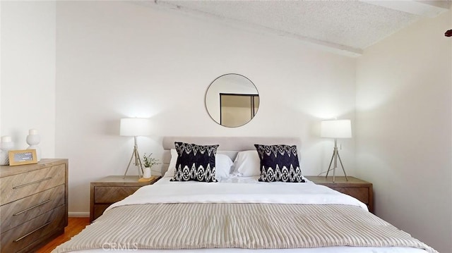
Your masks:
<svg viewBox="0 0 452 253"><path fill-rule="evenodd" d="M0 206L0 231L10 230L64 203L64 185Z"/></svg>

